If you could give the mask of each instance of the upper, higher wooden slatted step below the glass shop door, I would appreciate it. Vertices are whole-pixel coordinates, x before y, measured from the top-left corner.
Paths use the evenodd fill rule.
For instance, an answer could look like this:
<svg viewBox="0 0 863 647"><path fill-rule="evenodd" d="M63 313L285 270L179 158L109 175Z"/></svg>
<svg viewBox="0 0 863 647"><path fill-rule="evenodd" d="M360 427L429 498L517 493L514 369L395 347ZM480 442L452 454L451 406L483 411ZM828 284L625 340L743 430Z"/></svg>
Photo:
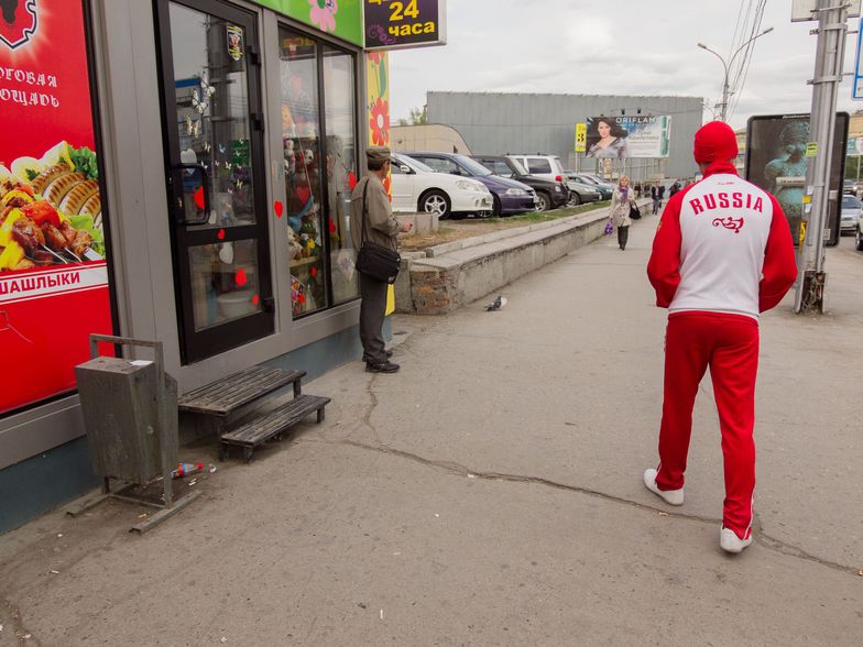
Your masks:
<svg viewBox="0 0 863 647"><path fill-rule="evenodd" d="M177 402L181 412L227 417L232 412L287 384L294 385L294 396L302 392L305 371L283 371L267 366L252 366L184 394Z"/></svg>

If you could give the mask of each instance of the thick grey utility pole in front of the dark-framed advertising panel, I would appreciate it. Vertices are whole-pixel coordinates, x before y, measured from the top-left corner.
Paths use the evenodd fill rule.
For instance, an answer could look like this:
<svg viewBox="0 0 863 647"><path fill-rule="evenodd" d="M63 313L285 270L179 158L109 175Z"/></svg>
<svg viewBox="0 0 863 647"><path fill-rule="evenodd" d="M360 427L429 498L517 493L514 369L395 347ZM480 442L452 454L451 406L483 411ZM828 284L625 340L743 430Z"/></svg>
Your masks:
<svg viewBox="0 0 863 647"><path fill-rule="evenodd" d="M818 44L812 85L812 111L809 118L809 145L806 168L806 195L802 222L806 238L798 250L798 279L795 312L824 311L824 224L829 212L830 163L835 132L837 90L842 81L842 63L848 33L848 2L818 0ZM811 155L816 146L815 156Z"/></svg>

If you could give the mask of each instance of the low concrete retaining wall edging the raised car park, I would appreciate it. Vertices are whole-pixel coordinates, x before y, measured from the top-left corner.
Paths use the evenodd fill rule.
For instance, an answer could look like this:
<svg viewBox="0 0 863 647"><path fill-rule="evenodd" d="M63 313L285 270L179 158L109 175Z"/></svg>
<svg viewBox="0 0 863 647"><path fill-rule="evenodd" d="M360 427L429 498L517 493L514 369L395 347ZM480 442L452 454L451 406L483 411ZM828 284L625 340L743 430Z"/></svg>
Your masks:
<svg viewBox="0 0 863 647"><path fill-rule="evenodd" d="M608 207L402 254L400 312L445 315L600 238Z"/></svg>

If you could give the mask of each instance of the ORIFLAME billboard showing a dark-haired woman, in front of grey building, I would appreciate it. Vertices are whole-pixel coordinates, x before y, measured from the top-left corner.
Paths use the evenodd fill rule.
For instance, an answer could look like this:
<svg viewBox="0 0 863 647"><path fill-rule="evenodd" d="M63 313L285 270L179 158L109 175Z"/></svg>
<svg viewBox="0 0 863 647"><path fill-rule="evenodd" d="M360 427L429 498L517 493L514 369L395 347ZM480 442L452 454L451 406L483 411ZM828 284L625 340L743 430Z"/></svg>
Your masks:
<svg viewBox="0 0 863 647"><path fill-rule="evenodd" d="M590 117L587 156L600 158L668 157L671 118L667 114Z"/></svg>

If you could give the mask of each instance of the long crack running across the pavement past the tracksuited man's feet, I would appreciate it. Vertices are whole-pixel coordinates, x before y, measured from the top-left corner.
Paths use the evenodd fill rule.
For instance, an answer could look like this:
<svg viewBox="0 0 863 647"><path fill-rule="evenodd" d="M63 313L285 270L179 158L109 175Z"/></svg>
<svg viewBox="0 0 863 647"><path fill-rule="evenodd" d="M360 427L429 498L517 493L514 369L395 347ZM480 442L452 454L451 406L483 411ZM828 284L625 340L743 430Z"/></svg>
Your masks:
<svg viewBox="0 0 863 647"><path fill-rule="evenodd" d="M371 417L371 414L369 415ZM376 434L376 431L375 431ZM423 467L432 468L436 471L454 474L457 476L467 476L467 478L476 478L484 481L505 481L510 483L527 483L532 485L540 485L543 487L550 487L553 490L560 490L564 492L575 492L577 494L583 494L586 496L592 496L596 498L600 498L602 501L608 501L610 503L616 503L618 505L624 505L627 507L634 507L636 509L641 509L644 512L651 513L658 513L662 516L667 516L669 518L675 519L684 519L689 522L698 522L701 524L721 524L722 519L712 518L712 517L704 517L700 515L691 515L691 514L682 514L676 512L669 512L667 509L663 509L660 507L656 507L653 505L647 505L644 503L640 503L637 501L632 501L629 498L624 498L622 496L615 496L613 494L609 494L607 492L601 492L599 490L592 490L590 487L581 487L579 485L570 485L568 483L560 483L557 481L551 481L550 479L544 479L542 476L526 476L522 474L507 474L504 472L483 472L483 471L474 471L470 470L469 468L454 462L454 461L435 461L430 459L423 458L418 454L411 453L408 451L403 451L400 449L394 449L391 447L385 447L383 445L374 446L368 445L364 442L358 442L356 440L339 440L339 441L316 441L316 440L304 440L303 442L309 443L320 443L320 445L346 445L349 447L354 447L357 449L361 449L363 451L371 451L376 453L384 453L394 456L397 458L406 459L413 462L416 462ZM793 544L788 544L783 541L782 539L777 539L776 537L772 537L764 533L763 525L761 519L758 518L757 514L755 515L755 541L764 547L767 550L773 552L778 552L780 555L802 559L806 561L811 561L822 567L827 567L832 570L837 570L843 573L849 573L856 577L863 577L863 569L856 567L850 567L846 564L838 563L834 561L830 561L828 559L820 558L816 555L807 552L799 546L794 546Z"/></svg>

